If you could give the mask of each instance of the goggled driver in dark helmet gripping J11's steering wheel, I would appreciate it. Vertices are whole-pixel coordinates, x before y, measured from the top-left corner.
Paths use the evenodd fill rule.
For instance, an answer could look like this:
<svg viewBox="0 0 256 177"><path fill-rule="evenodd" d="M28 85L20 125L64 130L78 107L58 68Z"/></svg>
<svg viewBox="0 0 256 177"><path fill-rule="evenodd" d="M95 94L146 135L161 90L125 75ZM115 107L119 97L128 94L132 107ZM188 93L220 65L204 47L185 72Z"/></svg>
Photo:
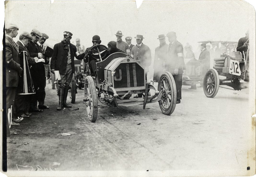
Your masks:
<svg viewBox="0 0 256 177"><path fill-rule="evenodd" d="M84 63L89 62L89 67L90 67L90 71L91 71L92 76L95 76L96 70L97 70L96 69L96 63L98 61L100 61L100 57L99 57L98 54L94 55L94 58L96 58L96 59L92 58L92 55L94 53L98 53L98 49L99 49L100 52L102 52L102 51L104 51L106 49L104 47L102 47L102 46L99 46L98 49L95 48L93 50L91 50L91 48L93 46L95 46L95 45L99 45L100 43L101 43L100 36L94 35L92 37L92 44L93 45L91 47L87 48L86 51L85 51ZM103 53L101 55L103 55ZM84 66L83 68L84 68L84 73L86 73L86 66Z"/></svg>

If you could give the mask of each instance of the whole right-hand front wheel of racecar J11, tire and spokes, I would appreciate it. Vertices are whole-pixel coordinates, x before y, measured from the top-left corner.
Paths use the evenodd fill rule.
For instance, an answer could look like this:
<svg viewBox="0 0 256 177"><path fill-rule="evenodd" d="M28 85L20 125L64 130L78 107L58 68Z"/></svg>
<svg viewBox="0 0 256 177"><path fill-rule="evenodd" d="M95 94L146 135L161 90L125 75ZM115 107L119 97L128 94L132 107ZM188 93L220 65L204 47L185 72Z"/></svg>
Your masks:
<svg viewBox="0 0 256 177"><path fill-rule="evenodd" d="M164 72L160 76L158 91L161 90L163 90L162 98L165 99L158 101L160 109L165 115L171 115L175 110L177 100L176 84L171 73Z"/></svg>

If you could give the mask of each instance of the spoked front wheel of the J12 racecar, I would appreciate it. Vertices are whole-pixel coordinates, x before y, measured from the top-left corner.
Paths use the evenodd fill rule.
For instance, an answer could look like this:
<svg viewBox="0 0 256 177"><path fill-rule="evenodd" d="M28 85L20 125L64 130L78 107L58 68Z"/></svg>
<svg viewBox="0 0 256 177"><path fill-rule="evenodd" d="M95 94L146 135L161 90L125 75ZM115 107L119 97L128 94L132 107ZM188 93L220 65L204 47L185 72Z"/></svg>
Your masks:
<svg viewBox="0 0 256 177"><path fill-rule="evenodd" d="M219 74L215 69L209 69L203 81L205 96L213 98L216 96L220 86Z"/></svg>

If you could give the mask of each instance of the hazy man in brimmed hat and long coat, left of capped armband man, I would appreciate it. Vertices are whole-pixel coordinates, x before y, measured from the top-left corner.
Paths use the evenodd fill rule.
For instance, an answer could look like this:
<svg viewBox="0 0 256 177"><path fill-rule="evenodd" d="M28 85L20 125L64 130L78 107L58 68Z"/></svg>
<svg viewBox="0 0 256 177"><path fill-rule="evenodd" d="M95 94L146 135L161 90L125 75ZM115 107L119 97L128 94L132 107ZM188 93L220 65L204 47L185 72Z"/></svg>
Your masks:
<svg viewBox="0 0 256 177"><path fill-rule="evenodd" d="M167 56L167 50L169 45L166 44L165 42L165 35L164 34L160 34L158 35L159 42L160 42L160 46L158 46L155 50L155 59L154 59L154 79L155 82L158 82L159 77L161 76L161 74L164 72L164 69L166 69L164 67L164 64L166 62L166 56Z"/></svg>

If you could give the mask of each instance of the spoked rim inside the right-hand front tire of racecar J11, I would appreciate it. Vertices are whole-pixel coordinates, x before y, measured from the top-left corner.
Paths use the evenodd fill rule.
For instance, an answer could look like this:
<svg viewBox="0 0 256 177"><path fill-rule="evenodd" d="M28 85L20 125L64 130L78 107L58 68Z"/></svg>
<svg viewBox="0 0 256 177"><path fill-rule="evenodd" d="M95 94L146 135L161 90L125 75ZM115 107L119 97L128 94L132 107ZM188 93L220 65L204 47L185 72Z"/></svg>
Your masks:
<svg viewBox="0 0 256 177"><path fill-rule="evenodd" d="M164 90L162 98L165 98L164 100L160 101L161 106L164 109L164 111L168 111L168 108L171 106L170 101L172 100L172 97L170 95L172 92L171 85L166 76L162 77L160 83L161 83L161 87L163 87L162 89Z"/></svg>

